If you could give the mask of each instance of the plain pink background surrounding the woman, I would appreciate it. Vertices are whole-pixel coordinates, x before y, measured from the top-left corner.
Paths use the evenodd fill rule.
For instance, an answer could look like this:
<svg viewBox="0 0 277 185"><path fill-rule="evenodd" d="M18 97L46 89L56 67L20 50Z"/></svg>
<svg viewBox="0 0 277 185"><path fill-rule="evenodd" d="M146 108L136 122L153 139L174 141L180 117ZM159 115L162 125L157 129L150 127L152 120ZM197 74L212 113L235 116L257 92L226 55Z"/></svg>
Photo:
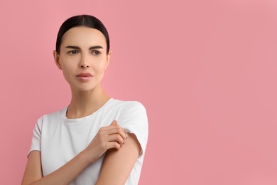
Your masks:
<svg viewBox="0 0 277 185"><path fill-rule="evenodd" d="M148 110L140 184L277 184L275 0L1 1L0 184L20 184L33 127L68 104L60 24L107 26L104 88Z"/></svg>

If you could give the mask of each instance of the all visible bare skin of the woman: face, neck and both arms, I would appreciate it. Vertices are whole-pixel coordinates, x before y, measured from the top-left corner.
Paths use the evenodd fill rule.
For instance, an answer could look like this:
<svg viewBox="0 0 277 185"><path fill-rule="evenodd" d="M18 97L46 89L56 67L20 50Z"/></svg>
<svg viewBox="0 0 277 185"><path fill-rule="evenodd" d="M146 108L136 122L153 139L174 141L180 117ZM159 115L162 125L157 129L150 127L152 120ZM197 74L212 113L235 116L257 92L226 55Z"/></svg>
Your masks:
<svg viewBox="0 0 277 185"><path fill-rule="evenodd" d="M67 46L78 48L73 50ZM101 48L92 50L92 46ZM75 27L63 36L60 53L53 52L55 63L63 70L71 88L72 100L67 109L67 118L91 115L109 100L100 85L111 56L110 52L106 53L106 48L101 32L93 28ZM93 77L89 80L77 78L76 75L80 73L90 73ZM116 121L99 129L87 148L47 176L42 173L40 152L31 152L21 184L69 184L105 152L97 184L125 184L139 157L141 146L134 134L129 134L127 138L126 131Z"/></svg>

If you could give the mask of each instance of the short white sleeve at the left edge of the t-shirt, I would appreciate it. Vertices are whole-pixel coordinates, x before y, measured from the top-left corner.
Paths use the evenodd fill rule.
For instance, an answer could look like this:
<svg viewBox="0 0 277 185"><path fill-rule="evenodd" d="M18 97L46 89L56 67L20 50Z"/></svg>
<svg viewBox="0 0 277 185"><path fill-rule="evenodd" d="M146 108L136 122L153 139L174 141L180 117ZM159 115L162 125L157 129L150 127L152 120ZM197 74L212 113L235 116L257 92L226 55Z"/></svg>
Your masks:
<svg viewBox="0 0 277 185"><path fill-rule="evenodd" d="M40 139L41 139L41 127L43 123L43 117L40 117L38 119L38 122L35 125L35 128L33 129L33 138L32 138L32 143L31 143L31 148L28 152L32 152L33 150L38 150L40 151Z"/></svg>

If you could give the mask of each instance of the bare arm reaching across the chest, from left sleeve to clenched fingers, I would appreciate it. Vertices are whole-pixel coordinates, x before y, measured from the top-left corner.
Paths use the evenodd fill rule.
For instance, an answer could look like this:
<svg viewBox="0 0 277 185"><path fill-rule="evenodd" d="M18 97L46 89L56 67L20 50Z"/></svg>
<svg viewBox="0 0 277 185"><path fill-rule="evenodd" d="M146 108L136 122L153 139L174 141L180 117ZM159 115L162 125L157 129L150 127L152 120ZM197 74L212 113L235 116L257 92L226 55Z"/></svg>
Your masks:
<svg viewBox="0 0 277 185"><path fill-rule="evenodd" d="M126 141L126 132L117 125L116 121L107 127L102 127L97 132L89 146L77 154L73 159L43 177L41 168L40 152L33 151L28 156L26 171L23 176L22 185L25 184L69 184L89 164L95 162L107 151L107 149L120 149Z"/></svg>

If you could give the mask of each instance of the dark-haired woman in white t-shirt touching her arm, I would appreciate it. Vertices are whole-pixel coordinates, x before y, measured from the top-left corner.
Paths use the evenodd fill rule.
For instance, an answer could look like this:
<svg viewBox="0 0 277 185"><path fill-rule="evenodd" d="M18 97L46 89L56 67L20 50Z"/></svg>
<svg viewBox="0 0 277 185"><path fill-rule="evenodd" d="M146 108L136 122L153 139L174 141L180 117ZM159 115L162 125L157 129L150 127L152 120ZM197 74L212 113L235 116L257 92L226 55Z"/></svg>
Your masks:
<svg viewBox="0 0 277 185"><path fill-rule="evenodd" d="M72 99L38 120L22 184L138 184L148 139L146 110L102 90L111 57L106 28L94 16L68 18L53 55Z"/></svg>

